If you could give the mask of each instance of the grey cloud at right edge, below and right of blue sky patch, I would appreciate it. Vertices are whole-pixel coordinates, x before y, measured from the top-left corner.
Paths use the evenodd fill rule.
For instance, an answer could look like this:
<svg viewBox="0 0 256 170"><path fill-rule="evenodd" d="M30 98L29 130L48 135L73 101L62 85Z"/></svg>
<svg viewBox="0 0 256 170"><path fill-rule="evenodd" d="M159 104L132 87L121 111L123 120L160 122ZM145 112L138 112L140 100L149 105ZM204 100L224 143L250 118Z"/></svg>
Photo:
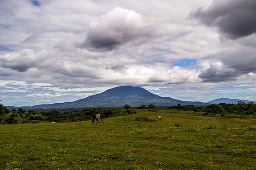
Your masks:
<svg viewBox="0 0 256 170"><path fill-rule="evenodd" d="M232 51L218 54L215 59L201 62L203 68L198 77L204 82L220 82L256 73L256 49L250 47L233 48Z"/></svg>

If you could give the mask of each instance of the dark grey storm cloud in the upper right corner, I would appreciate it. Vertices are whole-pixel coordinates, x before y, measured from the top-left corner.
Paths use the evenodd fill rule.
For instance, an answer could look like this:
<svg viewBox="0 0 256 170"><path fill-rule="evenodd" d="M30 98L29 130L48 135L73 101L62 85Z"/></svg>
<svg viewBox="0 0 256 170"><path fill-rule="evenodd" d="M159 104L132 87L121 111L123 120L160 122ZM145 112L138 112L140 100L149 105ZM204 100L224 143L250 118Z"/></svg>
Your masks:
<svg viewBox="0 0 256 170"><path fill-rule="evenodd" d="M208 8L191 11L189 18L217 28L221 38L237 39L256 33L256 0L214 0Z"/></svg>

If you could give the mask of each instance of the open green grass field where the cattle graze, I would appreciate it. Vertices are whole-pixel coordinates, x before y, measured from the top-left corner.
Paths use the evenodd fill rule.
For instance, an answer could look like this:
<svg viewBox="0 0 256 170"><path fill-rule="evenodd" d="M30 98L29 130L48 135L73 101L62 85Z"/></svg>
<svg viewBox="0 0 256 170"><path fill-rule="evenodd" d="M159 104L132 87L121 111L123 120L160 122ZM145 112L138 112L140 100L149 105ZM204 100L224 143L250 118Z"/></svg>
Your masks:
<svg viewBox="0 0 256 170"><path fill-rule="evenodd" d="M256 170L256 119L137 110L99 124L0 125L0 169Z"/></svg>

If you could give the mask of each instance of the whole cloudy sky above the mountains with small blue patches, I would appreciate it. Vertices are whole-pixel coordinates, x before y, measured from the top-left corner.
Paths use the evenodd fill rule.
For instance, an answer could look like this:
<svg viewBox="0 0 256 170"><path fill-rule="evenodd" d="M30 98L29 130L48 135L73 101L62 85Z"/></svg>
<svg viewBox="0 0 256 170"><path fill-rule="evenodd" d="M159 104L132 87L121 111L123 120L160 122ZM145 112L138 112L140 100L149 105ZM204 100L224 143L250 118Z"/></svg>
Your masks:
<svg viewBox="0 0 256 170"><path fill-rule="evenodd" d="M67 102L122 85L256 101L255 0L0 0L0 100Z"/></svg>

